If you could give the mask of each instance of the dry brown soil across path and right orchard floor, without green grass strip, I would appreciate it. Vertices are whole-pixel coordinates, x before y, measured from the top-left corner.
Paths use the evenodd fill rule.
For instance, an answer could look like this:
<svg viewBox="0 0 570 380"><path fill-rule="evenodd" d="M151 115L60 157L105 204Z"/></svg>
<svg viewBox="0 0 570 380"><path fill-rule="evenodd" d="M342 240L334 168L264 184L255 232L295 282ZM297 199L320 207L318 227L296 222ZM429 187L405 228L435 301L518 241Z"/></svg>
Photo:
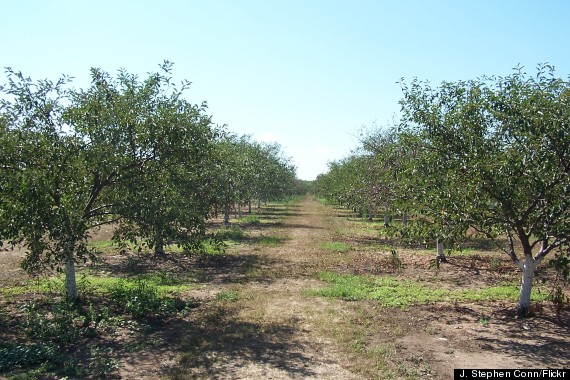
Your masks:
<svg viewBox="0 0 570 380"><path fill-rule="evenodd" d="M270 205L262 216L261 224L244 226L248 237L226 255L139 263L141 271L186 272L194 286L185 296L196 307L137 337L106 337L130 344L117 346L121 366L115 377L450 379L454 368L570 367L569 312L558 318L547 303L536 316L517 320L510 302L403 310L309 294L325 285L318 280L322 271L392 275L447 288L517 283L519 273L508 261L498 262L495 257L502 256L492 250L451 256L435 270L432 256L399 248L396 267L386 239L351 233L350 214L312 198ZM264 245L266 237L281 243ZM323 248L332 241L351 248ZM21 257L18 250L0 252L0 286L25 281L17 269ZM100 268L120 274L127 260L106 254Z"/></svg>

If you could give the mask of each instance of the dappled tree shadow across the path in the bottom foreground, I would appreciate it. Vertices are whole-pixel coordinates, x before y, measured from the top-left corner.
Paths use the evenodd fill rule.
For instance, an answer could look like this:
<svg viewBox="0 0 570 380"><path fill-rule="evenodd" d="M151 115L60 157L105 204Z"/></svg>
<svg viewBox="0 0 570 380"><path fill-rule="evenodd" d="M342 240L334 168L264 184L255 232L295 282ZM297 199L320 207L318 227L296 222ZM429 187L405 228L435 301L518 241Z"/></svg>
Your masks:
<svg viewBox="0 0 570 380"><path fill-rule="evenodd" d="M174 379L231 378L236 369L254 365L262 372L260 376L278 370L292 378L312 377L311 358L294 338L295 325L295 321L269 325L241 321L231 308L212 308L190 323L163 332L179 337L175 344L181 353L168 375Z"/></svg>

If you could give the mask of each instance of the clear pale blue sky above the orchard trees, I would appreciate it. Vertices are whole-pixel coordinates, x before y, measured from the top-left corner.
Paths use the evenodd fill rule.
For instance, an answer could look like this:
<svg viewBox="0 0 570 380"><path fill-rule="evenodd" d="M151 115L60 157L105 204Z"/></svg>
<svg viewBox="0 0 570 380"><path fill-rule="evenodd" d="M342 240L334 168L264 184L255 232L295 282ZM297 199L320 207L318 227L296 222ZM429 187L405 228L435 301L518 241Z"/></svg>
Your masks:
<svg viewBox="0 0 570 380"><path fill-rule="evenodd" d="M191 102L281 143L302 179L397 118L402 77L570 73L567 0L2 0L0 14L2 67L86 87L91 67L144 77L173 61Z"/></svg>

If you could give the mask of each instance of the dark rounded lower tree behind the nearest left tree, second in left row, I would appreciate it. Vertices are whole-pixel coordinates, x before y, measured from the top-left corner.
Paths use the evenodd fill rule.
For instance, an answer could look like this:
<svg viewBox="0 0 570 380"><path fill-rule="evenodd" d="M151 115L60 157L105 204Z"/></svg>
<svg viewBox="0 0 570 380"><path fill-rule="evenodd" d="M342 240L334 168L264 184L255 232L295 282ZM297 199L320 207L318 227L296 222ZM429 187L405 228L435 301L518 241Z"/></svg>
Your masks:
<svg viewBox="0 0 570 380"><path fill-rule="evenodd" d="M114 239L140 248L146 245L159 256L170 244L186 251L200 249L215 197L202 175L205 172L192 166L184 161L161 166L142 176L136 186L124 188L129 202L120 210Z"/></svg>

